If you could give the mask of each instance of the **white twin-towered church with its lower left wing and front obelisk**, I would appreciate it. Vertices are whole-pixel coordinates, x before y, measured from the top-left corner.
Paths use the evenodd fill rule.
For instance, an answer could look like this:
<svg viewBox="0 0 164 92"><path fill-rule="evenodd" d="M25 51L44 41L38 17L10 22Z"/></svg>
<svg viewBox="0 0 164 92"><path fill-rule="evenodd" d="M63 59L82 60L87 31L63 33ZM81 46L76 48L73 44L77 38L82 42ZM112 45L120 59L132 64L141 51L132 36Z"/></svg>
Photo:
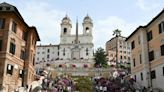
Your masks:
<svg viewBox="0 0 164 92"><path fill-rule="evenodd" d="M83 32L79 34L78 21L76 34L71 34L71 19L66 15L61 22L59 45L38 45L36 50L36 69L50 64L55 68L91 68L94 64L92 19L87 15L82 23Z"/></svg>

